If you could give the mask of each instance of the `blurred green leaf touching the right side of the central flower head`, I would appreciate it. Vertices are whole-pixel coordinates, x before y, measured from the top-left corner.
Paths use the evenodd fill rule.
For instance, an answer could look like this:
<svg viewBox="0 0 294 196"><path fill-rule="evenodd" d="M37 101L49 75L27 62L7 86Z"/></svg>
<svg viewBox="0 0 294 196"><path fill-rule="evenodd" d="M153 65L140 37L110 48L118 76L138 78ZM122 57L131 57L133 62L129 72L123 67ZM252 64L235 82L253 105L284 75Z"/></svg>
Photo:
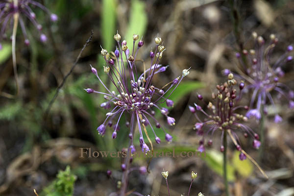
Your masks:
<svg viewBox="0 0 294 196"><path fill-rule="evenodd" d="M169 99L172 99L174 101L174 104L176 104L181 98L185 97L187 94L191 93L196 89L203 88L204 86L205 85L201 82L181 82L176 88L176 90L172 93Z"/></svg>

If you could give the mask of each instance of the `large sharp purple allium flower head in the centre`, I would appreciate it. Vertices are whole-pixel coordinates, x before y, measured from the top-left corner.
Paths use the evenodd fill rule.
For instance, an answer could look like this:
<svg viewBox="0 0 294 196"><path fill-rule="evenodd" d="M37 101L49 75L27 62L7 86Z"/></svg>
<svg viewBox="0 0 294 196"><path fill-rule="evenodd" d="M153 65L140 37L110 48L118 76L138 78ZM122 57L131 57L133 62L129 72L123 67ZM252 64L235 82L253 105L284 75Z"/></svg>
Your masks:
<svg viewBox="0 0 294 196"><path fill-rule="evenodd" d="M85 89L87 93L99 93L103 94L105 102L101 104L101 107L105 109L110 109L111 111L106 114L105 121L98 127L98 132L104 135L106 126L112 127L114 129L112 137L115 139L117 137L117 132L119 131L119 122L122 115L125 113L128 115L127 119L130 119L129 138L131 140L131 151L135 152L135 147L133 145L133 135L134 127L138 124L140 133L140 144L142 151L149 151L149 147L143 138L143 128L150 125L150 128L155 135L155 142L159 144L161 140L157 137L152 124L157 128L162 128L165 132L163 126L154 117L155 111L159 112L167 118L167 123L169 125L175 124L175 119L168 116L169 110L159 104L166 102L167 107L172 107L172 100L168 99L175 88L179 85L182 79L189 74L188 70L183 70L182 75L175 78L172 82L165 87L169 86L167 89L158 88L153 83L152 79L157 73L165 72L168 66L162 66L159 64L162 58L165 47L161 44L161 38L155 38L155 52L150 51L151 64L148 68L145 64L140 64L138 67L136 63L138 50L144 45L143 40L138 42L137 49L134 49L136 41L139 39L138 35L133 35L133 43L131 46L133 48L131 51L127 47L125 40L121 42L121 35L114 35L114 39L117 41L117 49L114 51L114 56L110 58L110 55L106 49L101 50L101 54L104 57L104 73L106 73L114 85L115 91L110 91L98 76L97 70L91 66L92 72L98 77L102 86L105 88L106 93L94 91L93 89ZM140 60L142 61L142 60ZM138 73L137 71L144 70L143 73ZM115 123L113 123L115 122ZM165 132L165 139L168 142L172 141L172 136Z"/></svg>

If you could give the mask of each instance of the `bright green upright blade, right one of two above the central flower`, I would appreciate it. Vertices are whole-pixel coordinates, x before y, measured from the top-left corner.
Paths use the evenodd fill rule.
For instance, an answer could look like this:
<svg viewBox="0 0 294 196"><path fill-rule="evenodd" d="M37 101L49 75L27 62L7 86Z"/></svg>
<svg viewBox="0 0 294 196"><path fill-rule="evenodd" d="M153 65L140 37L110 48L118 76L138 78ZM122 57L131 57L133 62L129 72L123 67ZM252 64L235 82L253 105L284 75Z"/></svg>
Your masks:
<svg viewBox="0 0 294 196"><path fill-rule="evenodd" d="M147 28L148 19L144 1L132 0L129 19L125 38L131 51L130 44L133 43L133 34L138 34L141 37L145 34Z"/></svg>

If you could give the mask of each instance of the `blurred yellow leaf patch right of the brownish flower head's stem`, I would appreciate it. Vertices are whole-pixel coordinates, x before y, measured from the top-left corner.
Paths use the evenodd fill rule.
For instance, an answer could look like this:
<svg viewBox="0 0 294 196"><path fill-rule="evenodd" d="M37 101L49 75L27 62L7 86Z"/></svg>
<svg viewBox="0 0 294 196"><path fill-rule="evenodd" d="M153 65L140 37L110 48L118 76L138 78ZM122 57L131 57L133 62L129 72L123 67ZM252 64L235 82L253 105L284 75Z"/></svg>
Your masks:
<svg viewBox="0 0 294 196"><path fill-rule="evenodd" d="M244 177L249 177L253 172L252 163L248 159L241 161L239 159L239 154L239 151L234 152L233 167L236 169L237 172L239 172Z"/></svg>

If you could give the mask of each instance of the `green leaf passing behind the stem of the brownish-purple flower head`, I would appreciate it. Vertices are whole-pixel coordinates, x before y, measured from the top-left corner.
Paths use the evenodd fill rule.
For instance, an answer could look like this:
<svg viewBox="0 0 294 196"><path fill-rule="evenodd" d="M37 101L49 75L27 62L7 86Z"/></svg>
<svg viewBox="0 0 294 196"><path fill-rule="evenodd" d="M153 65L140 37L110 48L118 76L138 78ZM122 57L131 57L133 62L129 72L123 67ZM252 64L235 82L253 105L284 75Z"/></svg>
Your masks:
<svg viewBox="0 0 294 196"><path fill-rule="evenodd" d="M217 150L206 150L206 157L203 160L207 163L213 171L217 172L219 175L223 175L223 158L222 153ZM234 167L227 163L227 177L229 181L235 179Z"/></svg>

